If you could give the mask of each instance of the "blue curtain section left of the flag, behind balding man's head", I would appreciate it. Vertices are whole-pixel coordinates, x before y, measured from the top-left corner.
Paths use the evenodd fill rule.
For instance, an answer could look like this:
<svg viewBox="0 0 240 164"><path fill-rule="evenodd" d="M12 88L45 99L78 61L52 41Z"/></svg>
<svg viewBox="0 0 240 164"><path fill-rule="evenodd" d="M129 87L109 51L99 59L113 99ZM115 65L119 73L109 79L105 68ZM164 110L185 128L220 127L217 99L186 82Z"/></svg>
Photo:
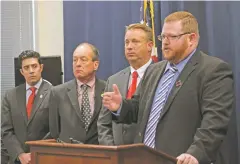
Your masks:
<svg viewBox="0 0 240 164"><path fill-rule="evenodd" d="M64 77L73 78L72 53L82 42L100 52L97 76L107 79L128 66L124 56L125 26L140 21L140 1L64 1Z"/></svg>

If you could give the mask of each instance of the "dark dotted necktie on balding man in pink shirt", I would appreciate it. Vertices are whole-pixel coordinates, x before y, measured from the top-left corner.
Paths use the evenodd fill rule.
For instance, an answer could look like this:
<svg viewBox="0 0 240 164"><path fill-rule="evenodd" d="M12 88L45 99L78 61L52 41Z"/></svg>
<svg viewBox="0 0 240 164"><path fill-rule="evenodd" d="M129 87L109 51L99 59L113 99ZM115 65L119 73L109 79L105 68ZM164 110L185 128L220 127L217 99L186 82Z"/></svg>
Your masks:
<svg viewBox="0 0 240 164"><path fill-rule="evenodd" d="M83 84L82 86L82 105L81 105L81 114L83 118L83 122L85 125L85 130L88 130L88 126L91 122L91 108L90 108L90 103L89 103L89 98L88 98L88 85Z"/></svg>

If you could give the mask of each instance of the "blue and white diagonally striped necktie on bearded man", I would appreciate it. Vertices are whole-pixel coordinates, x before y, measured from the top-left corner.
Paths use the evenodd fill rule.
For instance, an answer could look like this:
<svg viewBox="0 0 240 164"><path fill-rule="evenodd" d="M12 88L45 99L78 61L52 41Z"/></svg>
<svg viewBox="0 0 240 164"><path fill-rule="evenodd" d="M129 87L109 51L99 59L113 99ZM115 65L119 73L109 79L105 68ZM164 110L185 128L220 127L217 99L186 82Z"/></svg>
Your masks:
<svg viewBox="0 0 240 164"><path fill-rule="evenodd" d="M159 89L157 96L154 99L144 136L144 144L149 147L155 148L155 135L157 124L167 99L169 87L176 71L176 67L170 67L165 72L165 78L163 79L161 88Z"/></svg>

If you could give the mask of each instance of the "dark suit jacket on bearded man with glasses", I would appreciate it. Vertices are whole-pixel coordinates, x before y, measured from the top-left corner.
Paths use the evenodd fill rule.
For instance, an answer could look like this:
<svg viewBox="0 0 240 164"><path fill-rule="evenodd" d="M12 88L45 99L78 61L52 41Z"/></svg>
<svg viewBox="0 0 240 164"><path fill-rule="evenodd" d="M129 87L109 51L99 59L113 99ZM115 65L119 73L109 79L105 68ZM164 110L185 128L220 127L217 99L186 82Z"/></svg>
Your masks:
<svg viewBox="0 0 240 164"><path fill-rule="evenodd" d="M153 98L167 62L151 65L132 100L123 100L117 121L138 123L142 143ZM180 84L180 85L179 85ZM155 147L172 156L192 154L214 162L234 104L233 74L222 60L196 51L173 86L156 129Z"/></svg>

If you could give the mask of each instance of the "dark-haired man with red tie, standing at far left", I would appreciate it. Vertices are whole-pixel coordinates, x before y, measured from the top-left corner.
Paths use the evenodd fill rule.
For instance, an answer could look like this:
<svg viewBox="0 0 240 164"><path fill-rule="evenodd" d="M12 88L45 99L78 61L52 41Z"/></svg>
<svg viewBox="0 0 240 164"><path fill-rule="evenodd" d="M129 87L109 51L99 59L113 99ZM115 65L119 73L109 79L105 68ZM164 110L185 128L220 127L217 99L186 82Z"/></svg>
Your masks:
<svg viewBox="0 0 240 164"><path fill-rule="evenodd" d="M19 55L20 72L26 83L6 92L2 100L3 147L11 163L31 162L26 141L48 138L48 101L51 84L42 79L38 52L27 50Z"/></svg>

